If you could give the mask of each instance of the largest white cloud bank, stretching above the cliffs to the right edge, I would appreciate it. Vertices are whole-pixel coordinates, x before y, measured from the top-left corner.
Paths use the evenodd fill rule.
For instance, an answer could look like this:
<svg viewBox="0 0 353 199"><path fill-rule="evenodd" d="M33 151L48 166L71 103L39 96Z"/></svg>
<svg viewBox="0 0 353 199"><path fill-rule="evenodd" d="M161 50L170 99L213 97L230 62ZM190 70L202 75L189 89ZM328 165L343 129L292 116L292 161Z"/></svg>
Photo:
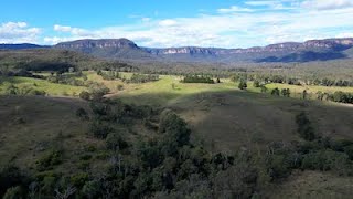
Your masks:
<svg viewBox="0 0 353 199"><path fill-rule="evenodd" d="M56 24L54 30L58 34L46 36L44 43L88 38L127 38L138 45L154 48L248 48L277 42L351 36L347 33L353 32L353 8L319 10L318 7L304 7L299 0L250 0L245 4L248 8L231 7L215 10L213 14L193 18L138 17L136 23L129 25L90 30Z"/></svg>

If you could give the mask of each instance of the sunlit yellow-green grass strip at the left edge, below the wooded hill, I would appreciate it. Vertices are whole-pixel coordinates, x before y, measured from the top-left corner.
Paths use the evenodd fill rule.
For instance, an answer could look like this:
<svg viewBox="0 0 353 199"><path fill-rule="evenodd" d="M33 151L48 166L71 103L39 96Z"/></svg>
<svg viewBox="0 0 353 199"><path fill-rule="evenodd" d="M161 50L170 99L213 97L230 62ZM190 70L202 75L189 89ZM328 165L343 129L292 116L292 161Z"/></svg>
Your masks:
<svg viewBox="0 0 353 199"><path fill-rule="evenodd" d="M6 93L6 88L13 84L14 86L21 88L34 88L38 91L44 91L51 96L74 96L78 95L86 87L83 86L72 86L64 84L50 83L46 80L31 78L31 77L0 77L0 94Z"/></svg>

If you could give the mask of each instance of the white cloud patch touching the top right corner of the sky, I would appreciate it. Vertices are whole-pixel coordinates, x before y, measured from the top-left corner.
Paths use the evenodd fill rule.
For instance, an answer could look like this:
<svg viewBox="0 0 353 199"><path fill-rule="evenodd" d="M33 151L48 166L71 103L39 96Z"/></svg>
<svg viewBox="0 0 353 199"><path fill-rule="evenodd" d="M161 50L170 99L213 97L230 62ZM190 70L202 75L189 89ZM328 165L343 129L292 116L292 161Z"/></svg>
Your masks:
<svg viewBox="0 0 353 199"><path fill-rule="evenodd" d="M317 10L335 10L353 7L352 0L306 0L302 2L304 8Z"/></svg>

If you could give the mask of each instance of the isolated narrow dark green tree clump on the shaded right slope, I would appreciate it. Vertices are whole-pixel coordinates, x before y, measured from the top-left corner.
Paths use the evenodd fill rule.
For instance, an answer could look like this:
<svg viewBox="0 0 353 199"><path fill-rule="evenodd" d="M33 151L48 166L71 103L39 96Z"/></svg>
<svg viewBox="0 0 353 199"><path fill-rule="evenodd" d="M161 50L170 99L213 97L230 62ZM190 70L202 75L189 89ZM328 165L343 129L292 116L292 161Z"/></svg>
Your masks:
<svg viewBox="0 0 353 199"><path fill-rule="evenodd" d="M298 133L301 138L306 140L313 140L317 138L313 127L306 113L300 113L296 116L296 123L298 125Z"/></svg>

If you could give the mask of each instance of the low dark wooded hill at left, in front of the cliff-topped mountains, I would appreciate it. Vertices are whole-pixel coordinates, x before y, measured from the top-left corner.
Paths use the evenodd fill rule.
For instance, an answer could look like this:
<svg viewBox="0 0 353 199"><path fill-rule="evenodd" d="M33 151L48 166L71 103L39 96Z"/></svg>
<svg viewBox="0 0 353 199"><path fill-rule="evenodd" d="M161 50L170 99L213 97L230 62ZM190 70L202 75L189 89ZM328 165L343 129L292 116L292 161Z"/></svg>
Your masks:
<svg viewBox="0 0 353 199"><path fill-rule="evenodd" d="M24 71L66 72L93 69L130 67L126 63L93 57L61 49L0 50L0 73Z"/></svg>

